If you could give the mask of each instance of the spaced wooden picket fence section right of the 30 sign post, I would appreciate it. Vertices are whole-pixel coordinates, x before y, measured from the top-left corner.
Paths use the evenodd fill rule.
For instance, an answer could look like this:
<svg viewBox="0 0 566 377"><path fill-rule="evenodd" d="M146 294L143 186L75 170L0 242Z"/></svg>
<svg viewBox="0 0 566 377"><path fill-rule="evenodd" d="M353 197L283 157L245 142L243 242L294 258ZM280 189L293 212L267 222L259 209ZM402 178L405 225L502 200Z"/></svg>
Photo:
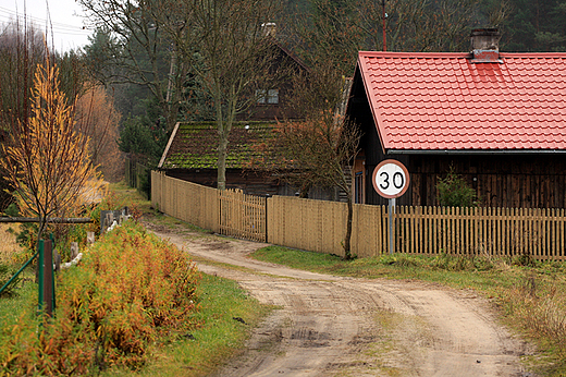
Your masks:
<svg viewBox="0 0 566 377"><path fill-rule="evenodd" d="M398 207L395 250L565 259L564 209Z"/></svg>

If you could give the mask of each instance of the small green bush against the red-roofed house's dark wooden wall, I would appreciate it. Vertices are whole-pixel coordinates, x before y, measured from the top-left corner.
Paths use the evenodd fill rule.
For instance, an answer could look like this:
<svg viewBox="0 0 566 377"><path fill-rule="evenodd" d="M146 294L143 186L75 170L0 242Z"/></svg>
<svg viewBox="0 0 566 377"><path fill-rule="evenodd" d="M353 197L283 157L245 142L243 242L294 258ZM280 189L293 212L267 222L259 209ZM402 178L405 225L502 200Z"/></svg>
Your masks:
<svg viewBox="0 0 566 377"><path fill-rule="evenodd" d="M446 178L440 178L436 184L438 198L445 207L477 207L479 205L476 191L469 186L464 178L454 172L451 167Z"/></svg>

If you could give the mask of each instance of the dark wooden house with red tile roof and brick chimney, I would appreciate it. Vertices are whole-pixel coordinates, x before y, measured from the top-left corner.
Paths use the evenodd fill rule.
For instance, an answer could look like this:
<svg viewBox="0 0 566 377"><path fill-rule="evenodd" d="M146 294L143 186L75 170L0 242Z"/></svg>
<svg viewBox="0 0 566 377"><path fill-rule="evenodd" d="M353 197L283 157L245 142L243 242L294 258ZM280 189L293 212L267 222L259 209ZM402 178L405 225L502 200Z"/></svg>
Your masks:
<svg viewBox="0 0 566 377"><path fill-rule="evenodd" d="M347 115L364 132L358 203L383 204L382 160L411 175L404 205L438 205L451 167L492 207L566 207L566 53L502 53L494 29L470 53L359 52Z"/></svg>

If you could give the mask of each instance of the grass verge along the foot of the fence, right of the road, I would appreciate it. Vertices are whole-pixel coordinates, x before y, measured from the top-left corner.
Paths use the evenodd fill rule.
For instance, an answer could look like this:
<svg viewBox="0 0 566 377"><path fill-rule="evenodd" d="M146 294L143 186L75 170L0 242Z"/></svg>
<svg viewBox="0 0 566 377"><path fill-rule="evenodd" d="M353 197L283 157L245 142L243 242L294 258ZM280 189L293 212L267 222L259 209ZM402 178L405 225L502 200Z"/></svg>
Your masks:
<svg viewBox="0 0 566 377"><path fill-rule="evenodd" d="M538 345L526 360L541 376L566 376L566 264L467 256L382 255L344 262L282 246L253 257L292 268L356 278L422 280L472 289L492 299L502 320ZM527 266L519 264L527 263Z"/></svg>

